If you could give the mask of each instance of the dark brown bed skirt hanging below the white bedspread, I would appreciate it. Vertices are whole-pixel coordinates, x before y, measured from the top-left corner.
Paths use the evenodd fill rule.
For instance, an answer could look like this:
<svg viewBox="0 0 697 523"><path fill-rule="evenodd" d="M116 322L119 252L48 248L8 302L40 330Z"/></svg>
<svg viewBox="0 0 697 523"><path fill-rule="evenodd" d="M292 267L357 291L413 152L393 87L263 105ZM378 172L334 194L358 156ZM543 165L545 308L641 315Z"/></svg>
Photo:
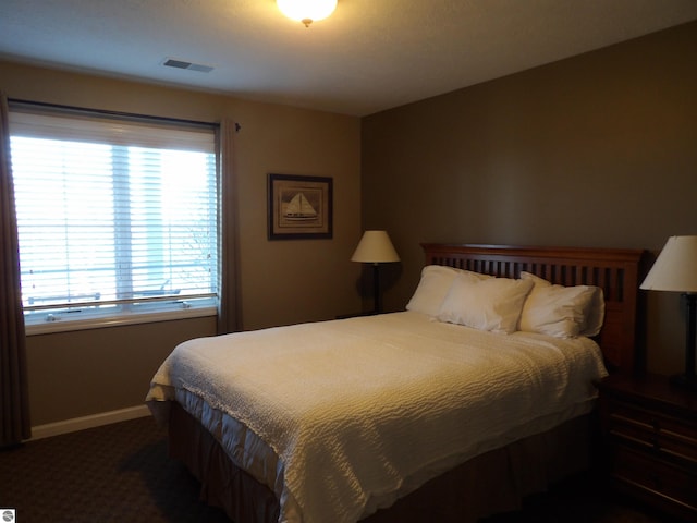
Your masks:
<svg viewBox="0 0 697 523"><path fill-rule="evenodd" d="M524 497L590 466L594 415L478 455L423 485L364 523L475 523L517 510ZM218 441L179 403L169 416L169 452L200 482L200 499L235 523L277 523L273 492L227 458Z"/></svg>

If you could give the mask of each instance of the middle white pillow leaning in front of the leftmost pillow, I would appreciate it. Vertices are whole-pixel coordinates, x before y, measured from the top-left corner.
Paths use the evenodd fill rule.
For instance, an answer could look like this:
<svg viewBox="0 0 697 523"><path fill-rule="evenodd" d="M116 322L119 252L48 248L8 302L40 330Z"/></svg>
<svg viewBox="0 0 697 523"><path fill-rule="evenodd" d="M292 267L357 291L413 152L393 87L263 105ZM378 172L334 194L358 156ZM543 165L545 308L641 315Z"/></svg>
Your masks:
<svg viewBox="0 0 697 523"><path fill-rule="evenodd" d="M479 330L515 332L533 285L529 280L458 275L443 300L438 319Z"/></svg>

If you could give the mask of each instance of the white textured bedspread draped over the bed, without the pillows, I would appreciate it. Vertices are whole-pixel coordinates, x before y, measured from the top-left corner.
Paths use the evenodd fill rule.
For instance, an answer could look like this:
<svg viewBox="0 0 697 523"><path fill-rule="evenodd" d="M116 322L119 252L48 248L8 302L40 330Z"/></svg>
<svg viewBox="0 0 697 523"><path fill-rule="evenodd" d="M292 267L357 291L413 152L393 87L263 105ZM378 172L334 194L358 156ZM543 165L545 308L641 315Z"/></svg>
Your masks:
<svg viewBox="0 0 697 523"><path fill-rule="evenodd" d="M155 414L174 399L200 411L233 461L276 491L281 523L341 523L587 412L604 375L586 338L496 335L404 312L184 342L147 400Z"/></svg>

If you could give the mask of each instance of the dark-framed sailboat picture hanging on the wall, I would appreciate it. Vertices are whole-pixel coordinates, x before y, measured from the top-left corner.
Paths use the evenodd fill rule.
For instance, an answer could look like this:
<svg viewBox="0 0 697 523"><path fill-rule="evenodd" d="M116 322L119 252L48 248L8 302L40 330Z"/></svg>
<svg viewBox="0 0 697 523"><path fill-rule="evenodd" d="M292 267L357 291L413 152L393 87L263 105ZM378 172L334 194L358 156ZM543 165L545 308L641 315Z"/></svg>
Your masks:
<svg viewBox="0 0 697 523"><path fill-rule="evenodd" d="M269 240L332 238L332 179L269 174Z"/></svg>

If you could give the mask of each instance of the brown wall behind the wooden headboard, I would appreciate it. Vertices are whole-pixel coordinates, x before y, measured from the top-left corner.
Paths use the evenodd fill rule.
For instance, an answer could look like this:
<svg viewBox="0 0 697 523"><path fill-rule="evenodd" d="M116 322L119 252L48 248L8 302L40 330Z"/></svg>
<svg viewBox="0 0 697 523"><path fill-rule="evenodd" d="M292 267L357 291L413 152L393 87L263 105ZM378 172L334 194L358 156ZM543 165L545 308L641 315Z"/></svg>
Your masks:
<svg viewBox="0 0 697 523"><path fill-rule="evenodd" d="M363 120L363 218L419 242L658 251L697 234L697 23ZM648 365L683 367L680 299L648 295Z"/></svg>

